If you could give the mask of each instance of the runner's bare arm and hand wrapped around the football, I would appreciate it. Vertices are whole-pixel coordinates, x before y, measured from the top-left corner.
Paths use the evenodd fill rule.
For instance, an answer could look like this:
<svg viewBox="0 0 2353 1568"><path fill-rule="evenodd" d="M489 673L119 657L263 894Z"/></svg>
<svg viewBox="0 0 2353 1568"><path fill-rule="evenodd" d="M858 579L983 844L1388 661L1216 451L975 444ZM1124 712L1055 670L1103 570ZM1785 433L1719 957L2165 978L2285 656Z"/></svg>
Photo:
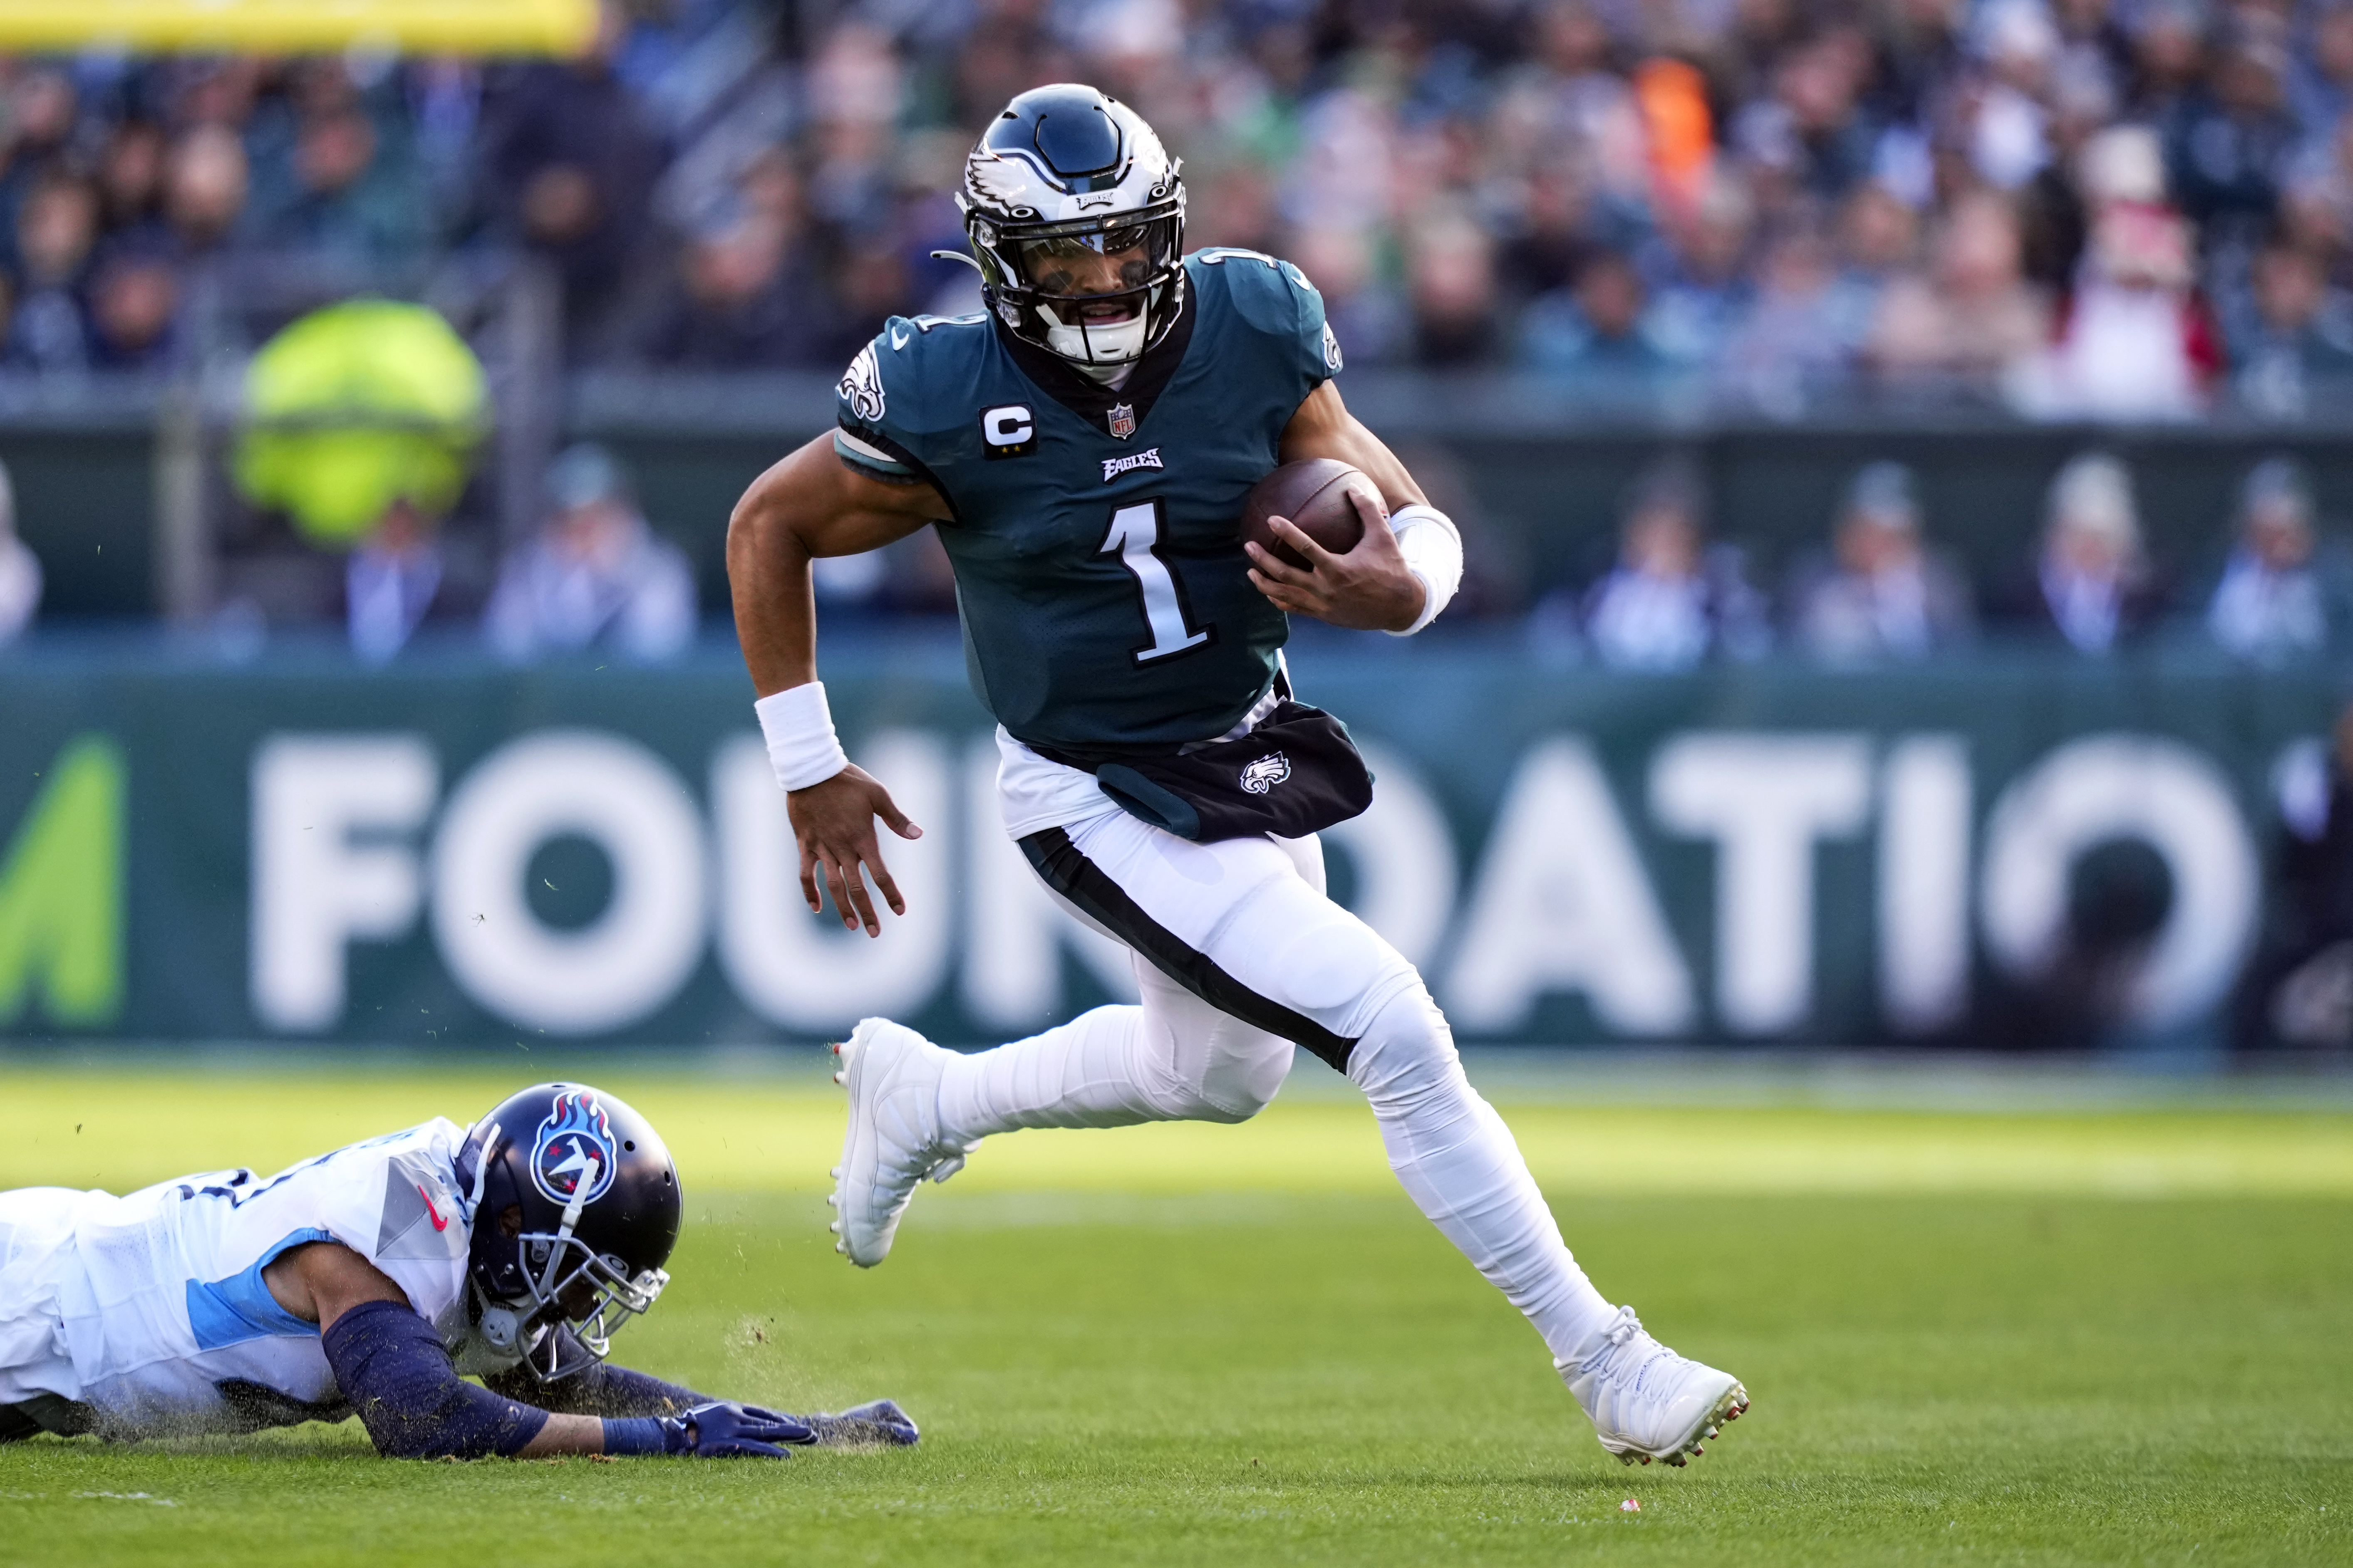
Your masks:
<svg viewBox="0 0 2353 1568"><path fill-rule="evenodd" d="M1381 503L1388 510L1426 505L1428 501L1398 454L1348 411L1339 388L1329 381L1308 393L1282 430L1282 461L1301 463L1306 458L1339 458L1362 470L1381 491ZM1353 491L1351 501L1365 517L1365 536L1353 550L1332 555L1292 527L1289 517L1271 517L1268 527L1306 557L1308 569L1301 571L1259 545L1245 543L1252 559L1249 581L1294 616L1315 616L1360 632L1402 632L1421 616L1428 590L1407 569L1388 522Z"/></svg>

